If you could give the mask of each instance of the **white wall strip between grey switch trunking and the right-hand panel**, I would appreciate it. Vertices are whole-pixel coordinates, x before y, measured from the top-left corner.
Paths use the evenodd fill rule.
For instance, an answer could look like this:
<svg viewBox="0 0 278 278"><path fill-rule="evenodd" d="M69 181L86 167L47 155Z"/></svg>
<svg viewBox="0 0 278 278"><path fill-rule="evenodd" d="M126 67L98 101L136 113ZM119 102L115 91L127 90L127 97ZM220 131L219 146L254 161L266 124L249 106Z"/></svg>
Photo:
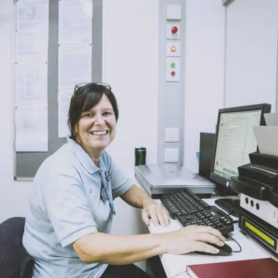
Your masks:
<svg viewBox="0 0 278 278"><path fill-rule="evenodd" d="M215 132L223 107L224 6L186 1L186 96L183 165L198 172L199 133Z"/></svg>

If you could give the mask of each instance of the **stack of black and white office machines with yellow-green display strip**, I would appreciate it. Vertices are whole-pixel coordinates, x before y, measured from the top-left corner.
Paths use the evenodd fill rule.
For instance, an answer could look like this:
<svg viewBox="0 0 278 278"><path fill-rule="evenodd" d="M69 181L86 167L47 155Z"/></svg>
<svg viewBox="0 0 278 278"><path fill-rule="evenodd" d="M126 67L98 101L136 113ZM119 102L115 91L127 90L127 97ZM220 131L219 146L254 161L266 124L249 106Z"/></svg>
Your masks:
<svg viewBox="0 0 278 278"><path fill-rule="evenodd" d="M278 156L250 154L230 187L240 193L239 227L278 257Z"/></svg>

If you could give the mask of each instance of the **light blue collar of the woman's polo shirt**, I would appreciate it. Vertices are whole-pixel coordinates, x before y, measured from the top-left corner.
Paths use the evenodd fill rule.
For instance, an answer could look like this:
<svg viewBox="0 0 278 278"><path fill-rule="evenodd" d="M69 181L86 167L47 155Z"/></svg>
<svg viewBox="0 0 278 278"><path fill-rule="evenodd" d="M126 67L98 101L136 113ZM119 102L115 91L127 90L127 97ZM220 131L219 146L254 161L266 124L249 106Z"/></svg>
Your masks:
<svg viewBox="0 0 278 278"><path fill-rule="evenodd" d="M102 159L99 158L99 167L95 165L95 163L92 161L92 158L88 155L87 152L79 145L78 142L72 140L71 138L67 138L67 144L70 145L72 148L76 158L79 160L81 165L90 173L93 174L98 171L105 170L104 163L102 162Z"/></svg>

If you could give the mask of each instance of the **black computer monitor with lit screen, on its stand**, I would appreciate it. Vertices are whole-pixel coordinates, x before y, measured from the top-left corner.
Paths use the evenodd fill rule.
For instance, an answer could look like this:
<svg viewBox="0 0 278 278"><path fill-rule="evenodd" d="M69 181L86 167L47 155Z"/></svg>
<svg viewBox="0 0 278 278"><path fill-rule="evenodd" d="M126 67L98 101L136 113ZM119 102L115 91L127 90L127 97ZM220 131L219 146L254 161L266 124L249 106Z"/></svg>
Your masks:
<svg viewBox="0 0 278 278"><path fill-rule="evenodd" d="M218 111L210 174L218 195L238 195L229 188L229 181L238 176L239 166L250 163L249 154L257 149L252 126L265 125L263 113L270 113L270 109L270 104L255 104ZM215 204L238 216L238 198L217 199Z"/></svg>

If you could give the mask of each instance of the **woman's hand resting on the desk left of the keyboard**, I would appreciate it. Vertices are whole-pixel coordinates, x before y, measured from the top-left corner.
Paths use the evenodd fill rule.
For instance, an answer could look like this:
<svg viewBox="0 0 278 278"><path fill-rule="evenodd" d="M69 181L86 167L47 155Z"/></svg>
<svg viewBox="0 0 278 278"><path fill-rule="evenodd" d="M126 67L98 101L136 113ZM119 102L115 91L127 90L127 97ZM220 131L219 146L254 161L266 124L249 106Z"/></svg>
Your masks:
<svg viewBox="0 0 278 278"><path fill-rule="evenodd" d="M156 226L161 224L161 226L165 227L170 224L170 216L167 209L149 198L145 200L142 208L142 220L146 226L149 226L150 219Z"/></svg>

